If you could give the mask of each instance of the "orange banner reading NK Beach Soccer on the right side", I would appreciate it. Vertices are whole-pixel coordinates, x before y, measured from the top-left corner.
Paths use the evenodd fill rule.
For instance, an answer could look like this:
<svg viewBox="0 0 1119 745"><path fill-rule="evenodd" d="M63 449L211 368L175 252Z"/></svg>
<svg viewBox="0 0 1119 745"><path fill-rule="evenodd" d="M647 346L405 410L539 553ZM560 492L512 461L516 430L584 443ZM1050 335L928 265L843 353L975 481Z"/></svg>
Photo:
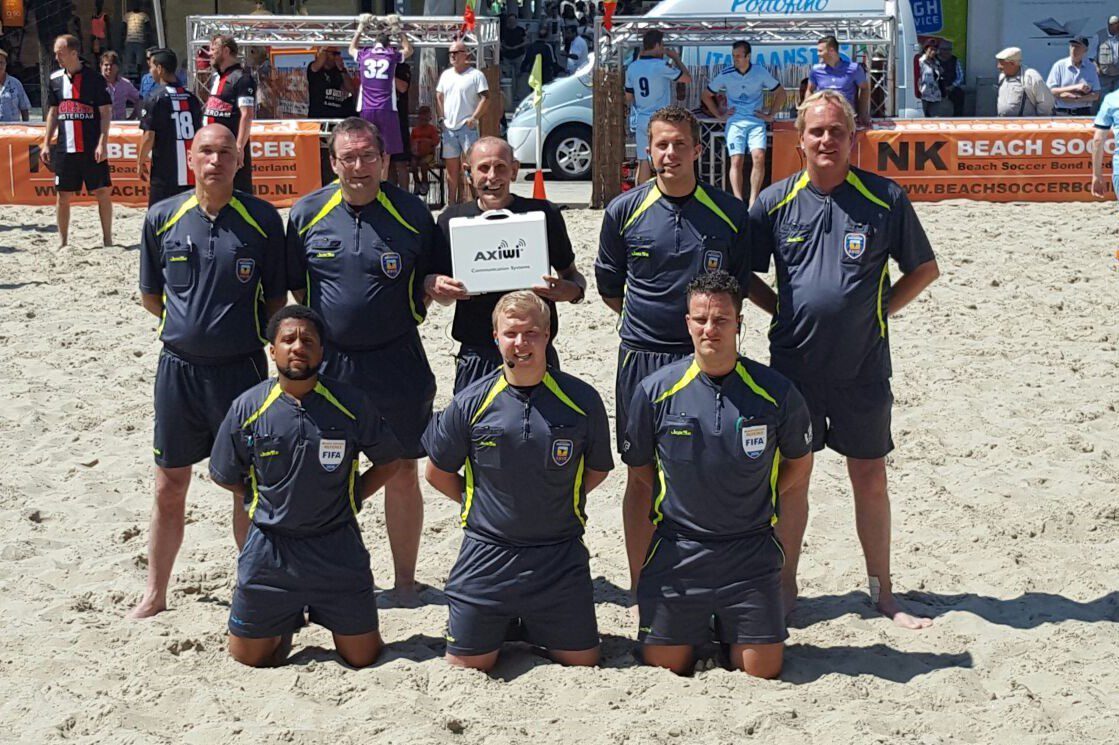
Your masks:
<svg viewBox="0 0 1119 745"><path fill-rule="evenodd" d="M913 201L1099 201L1090 120L895 120L859 132L852 163L897 181ZM1111 194L1110 134L1103 175ZM774 181L805 167L792 122L773 126Z"/></svg>

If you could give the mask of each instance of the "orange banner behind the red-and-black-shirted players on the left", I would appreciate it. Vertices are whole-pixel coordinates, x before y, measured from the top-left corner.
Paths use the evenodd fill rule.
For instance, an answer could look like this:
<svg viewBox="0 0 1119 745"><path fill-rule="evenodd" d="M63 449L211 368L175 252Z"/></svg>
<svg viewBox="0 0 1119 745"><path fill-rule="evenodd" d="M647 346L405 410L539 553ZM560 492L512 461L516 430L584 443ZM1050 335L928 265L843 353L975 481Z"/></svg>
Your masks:
<svg viewBox="0 0 1119 745"><path fill-rule="evenodd" d="M113 201L148 206L148 185L137 179L141 132L134 122L113 122L109 130L109 168ZM53 205L55 175L39 161L43 125L0 125L0 205ZM275 207L322 186L319 125L313 122L253 122L253 194ZM92 202L82 195L78 204Z"/></svg>

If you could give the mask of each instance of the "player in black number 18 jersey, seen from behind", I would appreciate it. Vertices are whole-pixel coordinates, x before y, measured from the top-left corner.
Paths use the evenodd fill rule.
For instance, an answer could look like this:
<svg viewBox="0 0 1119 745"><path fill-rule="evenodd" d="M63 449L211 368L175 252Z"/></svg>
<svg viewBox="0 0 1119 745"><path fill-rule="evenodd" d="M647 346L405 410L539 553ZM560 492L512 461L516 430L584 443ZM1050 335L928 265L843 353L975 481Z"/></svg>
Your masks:
<svg viewBox="0 0 1119 745"><path fill-rule="evenodd" d="M179 85L179 59L170 49L157 49L148 58L156 87L140 112L143 139L137 153L137 173L148 181L148 206L189 191L195 173L188 163L190 143L201 125L201 102ZM151 157L151 172L148 158Z"/></svg>

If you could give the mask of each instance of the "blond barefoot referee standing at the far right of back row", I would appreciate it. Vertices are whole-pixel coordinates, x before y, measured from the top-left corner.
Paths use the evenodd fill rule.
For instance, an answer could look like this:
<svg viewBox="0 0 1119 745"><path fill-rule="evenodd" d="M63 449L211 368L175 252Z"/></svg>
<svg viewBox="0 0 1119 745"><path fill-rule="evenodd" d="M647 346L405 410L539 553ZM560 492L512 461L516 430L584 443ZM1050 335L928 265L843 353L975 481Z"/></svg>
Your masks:
<svg viewBox="0 0 1119 745"><path fill-rule="evenodd" d="M890 576L890 317L939 275L929 238L904 189L850 166L855 111L838 91L819 91L798 107L806 170L765 189L750 209L754 277L750 299L773 315L770 365L791 378L812 413L812 450L847 459L855 522L871 598L908 629L932 622L904 613ZM890 280L890 260L902 277ZM778 526L788 553L786 610L797 598L797 562L808 524L808 482L781 493Z"/></svg>

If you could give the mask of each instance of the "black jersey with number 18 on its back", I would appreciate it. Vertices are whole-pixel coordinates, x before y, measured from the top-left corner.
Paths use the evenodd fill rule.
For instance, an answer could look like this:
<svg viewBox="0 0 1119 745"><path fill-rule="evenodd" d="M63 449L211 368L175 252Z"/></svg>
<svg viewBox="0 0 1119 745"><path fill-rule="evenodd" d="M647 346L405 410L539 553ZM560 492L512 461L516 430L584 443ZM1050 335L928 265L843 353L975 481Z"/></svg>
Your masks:
<svg viewBox="0 0 1119 745"><path fill-rule="evenodd" d="M152 183L194 186L195 175L187 164L187 153L201 120L201 107L195 94L177 85L158 86L144 100L140 129L156 133Z"/></svg>

